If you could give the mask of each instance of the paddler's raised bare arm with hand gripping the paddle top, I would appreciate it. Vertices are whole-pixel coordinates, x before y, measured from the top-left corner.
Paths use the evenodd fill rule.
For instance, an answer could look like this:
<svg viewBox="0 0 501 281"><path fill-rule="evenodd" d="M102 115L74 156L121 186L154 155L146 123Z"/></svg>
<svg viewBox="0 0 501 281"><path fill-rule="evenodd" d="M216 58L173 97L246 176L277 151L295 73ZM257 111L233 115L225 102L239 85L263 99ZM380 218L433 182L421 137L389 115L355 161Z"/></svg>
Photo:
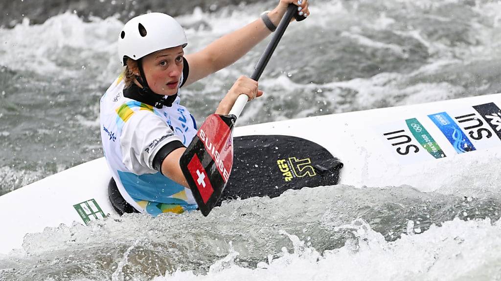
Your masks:
<svg viewBox="0 0 501 281"><path fill-rule="evenodd" d="M278 6L268 13L275 26L284 16L290 3L301 7L298 13L309 15L308 0L280 0ZM185 84L191 84L232 64L271 33L263 19L258 18L242 28L222 36L202 50L186 55L190 71Z"/></svg>

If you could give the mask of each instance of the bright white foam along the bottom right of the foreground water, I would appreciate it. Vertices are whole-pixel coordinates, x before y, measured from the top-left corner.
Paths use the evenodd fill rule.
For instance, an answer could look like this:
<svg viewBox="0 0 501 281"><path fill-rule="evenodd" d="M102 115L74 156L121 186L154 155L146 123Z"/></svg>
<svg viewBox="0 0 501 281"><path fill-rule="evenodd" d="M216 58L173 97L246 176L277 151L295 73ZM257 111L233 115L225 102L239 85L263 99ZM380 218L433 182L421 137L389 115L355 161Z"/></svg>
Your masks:
<svg viewBox="0 0 501 281"><path fill-rule="evenodd" d="M154 280L480 280L499 274L501 227L488 218L454 219L394 242L385 241L361 219L343 227L352 229L356 239L323 254L305 245L307 241L287 234L293 249L268 258L258 268L228 261L237 256L233 252L223 259L226 266L206 275L177 270Z"/></svg>

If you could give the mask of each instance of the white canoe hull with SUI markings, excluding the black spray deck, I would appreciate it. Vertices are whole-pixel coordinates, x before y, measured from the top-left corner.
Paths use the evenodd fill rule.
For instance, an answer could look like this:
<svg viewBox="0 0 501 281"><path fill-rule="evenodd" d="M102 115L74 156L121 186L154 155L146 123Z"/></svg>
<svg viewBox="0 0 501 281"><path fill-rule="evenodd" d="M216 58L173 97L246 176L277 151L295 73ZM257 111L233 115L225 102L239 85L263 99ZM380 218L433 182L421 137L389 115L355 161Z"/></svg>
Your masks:
<svg viewBox="0 0 501 281"><path fill-rule="evenodd" d="M242 126L234 136L280 134L316 142L344 163L340 184L475 188L498 178L499 108L501 94L491 94ZM484 180L468 176L480 171ZM0 223L9 228L0 253L20 248L26 233L116 213L108 200L110 178L99 158L0 196Z"/></svg>

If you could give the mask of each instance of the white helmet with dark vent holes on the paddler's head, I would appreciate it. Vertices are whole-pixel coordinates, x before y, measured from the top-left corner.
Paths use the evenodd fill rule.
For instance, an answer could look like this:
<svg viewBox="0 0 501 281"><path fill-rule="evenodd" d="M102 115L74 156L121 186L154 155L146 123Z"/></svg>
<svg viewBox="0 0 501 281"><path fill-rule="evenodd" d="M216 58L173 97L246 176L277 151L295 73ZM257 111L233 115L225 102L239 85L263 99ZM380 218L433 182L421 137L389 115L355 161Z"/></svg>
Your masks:
<svg viewBox="0 0 501 281"><path fill-rule="evenodd" d="M187 44L183 27L172 16L151 12L125 23L118 37L118 54L125 66L127 57L139 59L157 50L177 46L184 48Z"/></svg>

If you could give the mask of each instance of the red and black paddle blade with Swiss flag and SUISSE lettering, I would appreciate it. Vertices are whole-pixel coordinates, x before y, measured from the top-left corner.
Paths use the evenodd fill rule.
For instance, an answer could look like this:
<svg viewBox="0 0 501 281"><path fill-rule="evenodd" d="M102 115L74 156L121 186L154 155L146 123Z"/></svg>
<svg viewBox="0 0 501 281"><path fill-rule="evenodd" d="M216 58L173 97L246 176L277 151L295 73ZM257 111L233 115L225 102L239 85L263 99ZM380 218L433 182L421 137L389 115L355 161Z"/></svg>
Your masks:
<svg viewBox="0 0 501 281"><path fill-rule="evenodd" d="M221 197L233 164L234 115L212 114L181 156L179 164L198 208L207 215Z"/></svg>

